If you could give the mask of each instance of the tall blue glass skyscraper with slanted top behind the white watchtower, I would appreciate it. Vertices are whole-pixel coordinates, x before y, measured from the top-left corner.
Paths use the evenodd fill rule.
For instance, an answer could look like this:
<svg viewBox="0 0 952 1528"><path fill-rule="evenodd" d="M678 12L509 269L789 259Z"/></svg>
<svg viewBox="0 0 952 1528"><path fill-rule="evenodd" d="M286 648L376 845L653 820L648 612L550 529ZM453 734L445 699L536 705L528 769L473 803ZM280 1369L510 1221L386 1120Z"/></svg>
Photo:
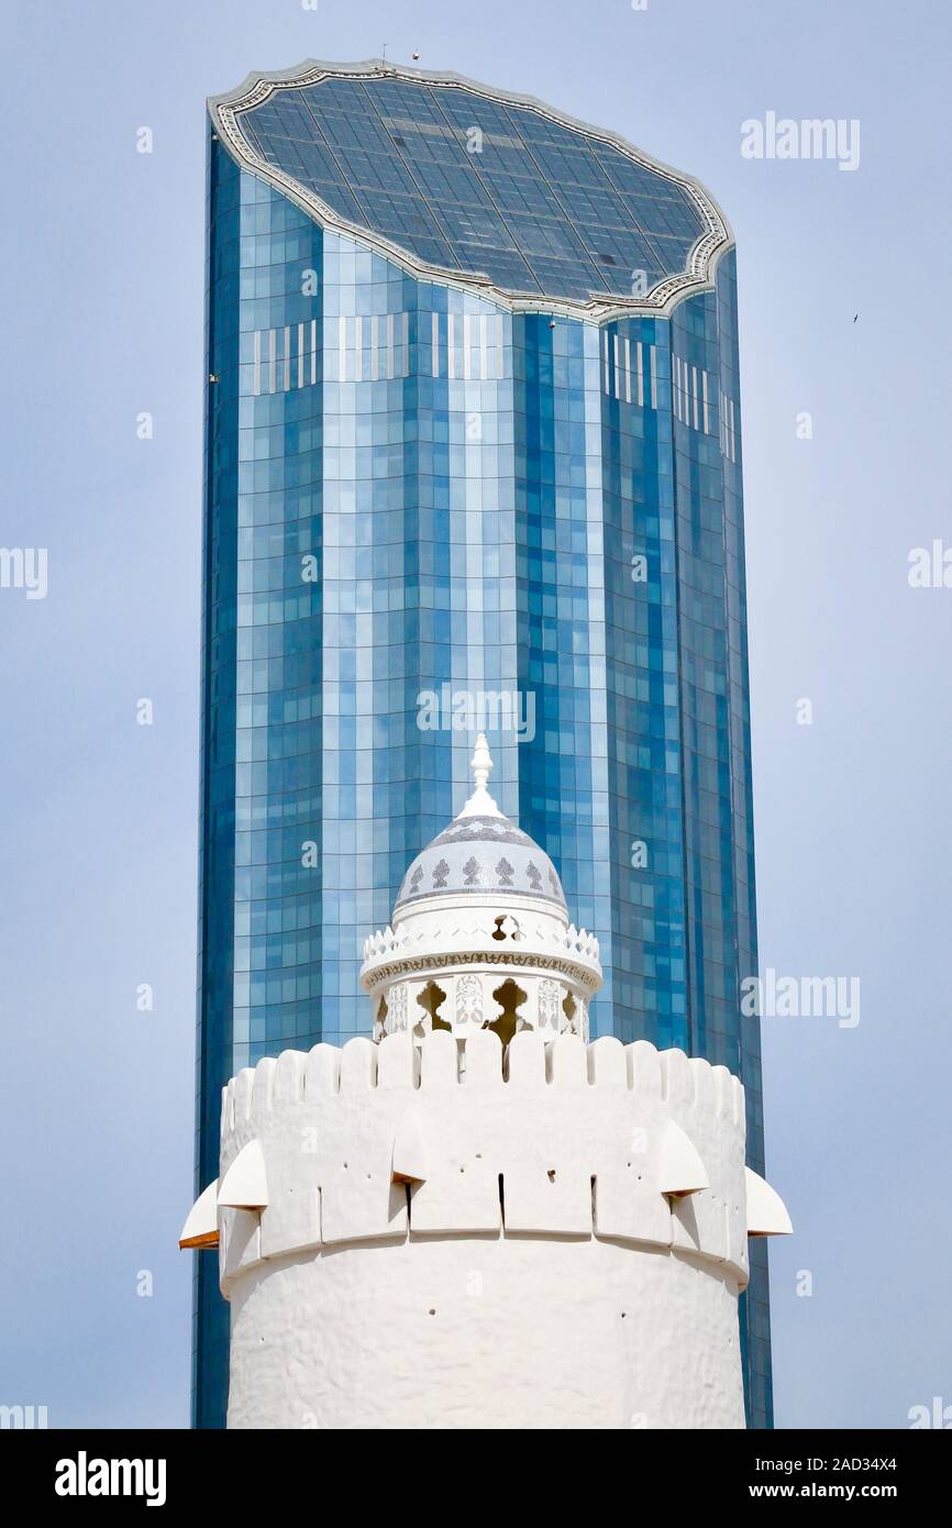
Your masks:
<svg viewBox="0 0 952 1528"><path fill-rule="evenodd" d="M593 1038L737 1071L763 1172L737 351L724 215L613 133L388 63L209 102L200 1187L232 1073L367 1030L478 730L601 940Z"/></svg>

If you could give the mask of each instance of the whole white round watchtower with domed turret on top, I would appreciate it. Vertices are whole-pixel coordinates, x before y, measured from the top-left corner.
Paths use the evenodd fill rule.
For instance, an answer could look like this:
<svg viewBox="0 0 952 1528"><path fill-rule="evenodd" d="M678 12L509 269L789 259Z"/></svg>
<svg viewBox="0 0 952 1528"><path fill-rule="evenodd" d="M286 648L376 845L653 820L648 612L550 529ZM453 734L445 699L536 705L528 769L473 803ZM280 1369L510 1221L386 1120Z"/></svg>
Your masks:
<svg viewBox="0 0 952 1528"><path fill-rule="evenodd" d="M588 1044L597 941L475 790L365 946L374 1039L258 1062L223 1094L229 1427L743 1427L744 1167L724 1067Z"/></svg>

